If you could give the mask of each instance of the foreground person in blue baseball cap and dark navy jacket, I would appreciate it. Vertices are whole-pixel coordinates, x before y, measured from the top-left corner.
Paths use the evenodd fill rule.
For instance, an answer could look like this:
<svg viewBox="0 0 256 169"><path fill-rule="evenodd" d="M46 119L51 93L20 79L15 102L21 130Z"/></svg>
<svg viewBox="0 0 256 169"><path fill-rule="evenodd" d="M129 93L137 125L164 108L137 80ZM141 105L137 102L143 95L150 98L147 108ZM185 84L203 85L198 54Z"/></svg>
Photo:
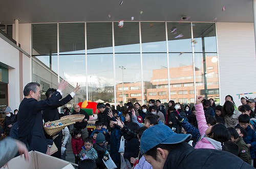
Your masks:
<svg viewBox="0 0 256 169"><path fill-rule="evenodd" d="M165 125L155 125L143 132L140 139L140 151L154 169L253 168L229 152L195 149L184 142L190 138L190 134L176 134Z"/></svg>

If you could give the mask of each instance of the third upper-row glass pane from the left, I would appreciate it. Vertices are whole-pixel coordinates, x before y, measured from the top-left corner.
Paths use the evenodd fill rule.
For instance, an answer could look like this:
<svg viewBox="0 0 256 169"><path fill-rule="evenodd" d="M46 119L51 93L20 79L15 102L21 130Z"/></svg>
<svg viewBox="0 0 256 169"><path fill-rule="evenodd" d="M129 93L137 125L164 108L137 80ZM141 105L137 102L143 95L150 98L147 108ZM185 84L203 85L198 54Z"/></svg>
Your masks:
<svg viewBox="0 0 256 169"><path fill-rule="evenodd" d="M87 23L87 53L113 53L112 22Z"/></svg>

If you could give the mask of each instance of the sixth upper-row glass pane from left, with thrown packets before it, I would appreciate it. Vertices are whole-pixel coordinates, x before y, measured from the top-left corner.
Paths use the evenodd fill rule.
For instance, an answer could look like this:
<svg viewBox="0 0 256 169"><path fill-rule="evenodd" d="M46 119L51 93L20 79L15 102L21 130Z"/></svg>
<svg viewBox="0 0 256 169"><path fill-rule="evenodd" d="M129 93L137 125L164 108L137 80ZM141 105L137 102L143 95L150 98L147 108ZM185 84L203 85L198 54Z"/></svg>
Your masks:
<svg viewBox="0 0 256 169"><path fill-rule="evenodd" d="M192 52L191 26L188 22L167 22L170 52Z"/></svg>

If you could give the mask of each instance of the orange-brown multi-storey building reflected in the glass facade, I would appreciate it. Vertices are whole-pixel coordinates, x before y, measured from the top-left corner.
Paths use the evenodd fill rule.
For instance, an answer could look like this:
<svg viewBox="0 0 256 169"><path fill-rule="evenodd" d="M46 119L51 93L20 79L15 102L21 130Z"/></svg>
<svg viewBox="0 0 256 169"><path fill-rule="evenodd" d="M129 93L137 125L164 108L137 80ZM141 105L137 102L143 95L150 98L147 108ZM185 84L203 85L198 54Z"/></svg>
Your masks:
<svg viewBox="0 0 256 169"><path fill-rule="evenodd" d="M205 99L214 99L219 103L219 75L217 56L206 56L197 62L195 67L196 95L204 95ZM144 103L142 103L141 82L116 85L117 103L138 102L146 104L150 99L168 102L168 68L153 69L153 76L143 82ZM180 103L195 103L193 65L169 67L170 100ZM124 95L122 95L122 92Z"/></svg>

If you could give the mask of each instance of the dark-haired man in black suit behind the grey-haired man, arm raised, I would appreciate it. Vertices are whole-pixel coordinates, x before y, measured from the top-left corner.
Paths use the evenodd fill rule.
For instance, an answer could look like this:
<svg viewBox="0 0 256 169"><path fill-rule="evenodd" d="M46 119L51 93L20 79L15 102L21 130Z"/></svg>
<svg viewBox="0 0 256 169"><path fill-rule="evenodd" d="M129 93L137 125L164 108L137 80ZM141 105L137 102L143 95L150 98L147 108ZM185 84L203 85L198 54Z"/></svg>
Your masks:
<svg viewBox="0 0 256 169"><path fill-rule="evenodd" d="M74 98L75 93L78 91L79 88L80 88L80 85L78 86L78 84L76 84L76 88L74 89L73 92L71 92L65 98L58 101L54 106L49 107L48 109L42 110L42 115L44 116L43 117L44 121L45 122L49 122L49 121L52 122L52 121L60 119L60 114L59 114L59 111L58 111L57 108L69 103L69 101L71 101ZM50 99L52 94L54 94L55 92L56 92L56 89L49 88L46 91L46 99ZM62 131L58 132L56 135L58 135L58 136L53 140L53 142L55 143L55 146L58 148L58 151L56 153L52 154L52 156L57 157L57 158L60 159L61 158L60 150L61 150L61 146L62 146L62 143L61 143ZM46 138L52 139L53 136L50 136L50 135L46 134ZM47 148L47 153L46 154L50 154L50 147Z"/></svg>

